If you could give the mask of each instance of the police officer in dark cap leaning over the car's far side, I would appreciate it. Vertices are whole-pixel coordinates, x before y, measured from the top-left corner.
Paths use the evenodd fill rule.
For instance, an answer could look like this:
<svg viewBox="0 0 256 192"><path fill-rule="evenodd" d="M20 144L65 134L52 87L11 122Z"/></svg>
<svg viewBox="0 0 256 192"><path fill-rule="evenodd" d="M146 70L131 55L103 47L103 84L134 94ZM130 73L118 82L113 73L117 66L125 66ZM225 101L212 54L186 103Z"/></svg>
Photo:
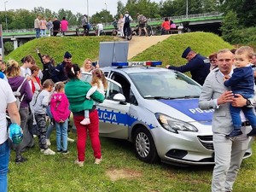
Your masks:
<svg viewBox="0 0 256 192"><path fill-rule="evenodd" d="M166 65L166 68L173 69L181 73L190 72L192 79L198 84L203 85L208 73L210 73L210 62L205 56L196 54L190 47L183 51L182 57L189 61L181 67Z"/></svg>

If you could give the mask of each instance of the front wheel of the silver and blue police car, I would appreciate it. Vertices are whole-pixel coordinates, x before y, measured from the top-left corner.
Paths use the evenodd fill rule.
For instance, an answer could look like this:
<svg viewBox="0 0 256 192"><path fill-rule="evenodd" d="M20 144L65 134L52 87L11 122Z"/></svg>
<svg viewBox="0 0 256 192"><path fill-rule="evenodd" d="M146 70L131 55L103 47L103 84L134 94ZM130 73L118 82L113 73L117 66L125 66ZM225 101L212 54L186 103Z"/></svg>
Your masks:
<svg viewBox="0 0 256 192"><path fill-rule="evenodd" d="M137 158L147 163L155 163L159 160L156 152L153 137L150 132L143 127L139 127L133 137L134 149Z"/></svg>

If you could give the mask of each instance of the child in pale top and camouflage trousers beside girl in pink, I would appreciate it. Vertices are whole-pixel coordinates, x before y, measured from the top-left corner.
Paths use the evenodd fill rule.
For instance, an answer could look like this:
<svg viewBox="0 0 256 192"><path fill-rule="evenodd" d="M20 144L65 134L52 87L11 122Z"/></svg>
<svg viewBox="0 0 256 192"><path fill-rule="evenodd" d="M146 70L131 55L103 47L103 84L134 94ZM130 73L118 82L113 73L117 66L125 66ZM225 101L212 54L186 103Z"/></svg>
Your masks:
<svg viewBox="0 0 256 192"><path fill-rule="evenodd" d="M35 119L38 125L38 142L41 152L44 154L55 154L46 143L46 108L49 105L49 92L54 88L55 84L51 79L44 81L43 90L38 93L33 104Z"/></svg>

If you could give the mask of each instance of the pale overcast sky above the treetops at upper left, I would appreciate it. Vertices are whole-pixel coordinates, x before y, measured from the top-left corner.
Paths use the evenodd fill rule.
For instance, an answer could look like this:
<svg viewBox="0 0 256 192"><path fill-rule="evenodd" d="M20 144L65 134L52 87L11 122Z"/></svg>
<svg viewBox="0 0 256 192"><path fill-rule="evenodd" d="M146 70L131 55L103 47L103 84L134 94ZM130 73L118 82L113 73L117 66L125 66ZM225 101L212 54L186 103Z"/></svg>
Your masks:
<svg viewBox="0 0 256 192"><path fill-rule="evenodd" d="M43 7L55 12L58 12L59 9L65 9L71 10L73 14L87 14L87 2L90 16L102 11L102 9L108 9L110 14L116 15L118 0L0 0L0 11L4 11L5 7L7 10L32 10L35 7ZM121 0L121 2L125 5L127 0ZM159 3L160 0L151 0L151 2Z"/></svg>

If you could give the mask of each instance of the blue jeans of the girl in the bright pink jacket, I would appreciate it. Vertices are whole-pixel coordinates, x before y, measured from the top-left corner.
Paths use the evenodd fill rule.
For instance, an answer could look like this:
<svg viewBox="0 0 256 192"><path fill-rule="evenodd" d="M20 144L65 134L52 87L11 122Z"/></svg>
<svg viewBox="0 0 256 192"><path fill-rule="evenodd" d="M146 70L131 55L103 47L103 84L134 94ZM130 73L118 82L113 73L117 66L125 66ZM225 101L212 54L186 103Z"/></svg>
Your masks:
<svg viewBox="0 0 256 192"><path fill-rule="evenodd" d="M57 150L60 151L67 151L67 121L66 119L64 123L57 123L55 122L56 126L56 144ZM61 146L62 140L62 146Z"/></svg>

